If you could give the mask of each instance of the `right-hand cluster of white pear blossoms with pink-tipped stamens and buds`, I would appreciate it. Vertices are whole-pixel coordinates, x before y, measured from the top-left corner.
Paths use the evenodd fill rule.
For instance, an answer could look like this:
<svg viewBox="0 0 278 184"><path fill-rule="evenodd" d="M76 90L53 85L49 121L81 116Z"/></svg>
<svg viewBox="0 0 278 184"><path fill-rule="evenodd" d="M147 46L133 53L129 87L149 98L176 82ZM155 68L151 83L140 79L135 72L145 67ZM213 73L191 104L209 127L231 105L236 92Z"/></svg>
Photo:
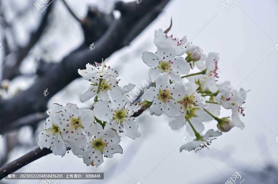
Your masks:
<svg viewBox="0 0 278 184"><path fill-rule="evenodd" d="M155 31L154 44L157 46L155 54L145 51L142 55L143 62L150 66L149 76L154 82L153 87L145 89L144 99L152 103L150 114L165 113L173 118L169 123L172 129L186 125L186 131L196 136L193 142L181 146L180 151L207 147L211 138L221 132L234 126L244 128L240 115L245 115L242 105L247 91L242 88L238 91L228 81L219 82L218 53L210 52L206 56L199 46L187 43L185 36L179 40L161 29ZM201 71L188 74L195 66ZM217 117L221 106L232 110L231 118ZM218 130L210 129L202 136L204 122L213 119L217 121Z"/></svg>

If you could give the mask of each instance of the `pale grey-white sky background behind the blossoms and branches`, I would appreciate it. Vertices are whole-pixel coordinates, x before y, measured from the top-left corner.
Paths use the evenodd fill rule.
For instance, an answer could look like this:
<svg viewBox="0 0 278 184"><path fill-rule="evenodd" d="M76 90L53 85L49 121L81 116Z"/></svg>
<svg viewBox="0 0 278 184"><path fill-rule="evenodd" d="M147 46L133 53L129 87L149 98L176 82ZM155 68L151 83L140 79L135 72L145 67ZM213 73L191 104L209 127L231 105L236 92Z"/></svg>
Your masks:
<svg viewBox="0 0 278 184"><path fill-rule="evenodd" d="M48 29L48 33L40 41L40 46L32 52L39 55L42 48L48 47L48 60L59 62L82 43L83 36L82 28L65 9L64 4L58 0L55 1L57 2L51 5L56 9L53 9L55 12L53 27ZM67 2L77 12L79 18L83 18L87 12L87 6L93 4L93 1L89 0L67 0ZM136 4L135 1L133 2ZM163 13L133 40L130 46L117 51L108 60L121 73L119 76L121 86L128 82L139 84L142 79L149 80L149 67L142 62L141 55L146 50L156 51L153 43L154 30L159 28L165 30L170 25L172 17L173 26L168 34L173 34L180 39L186 35L188 41L203 49L204 54L211 51L220 53L219 79L222 82L231 81L237 89L241 87L245 90L251 89L246 99L244 110L246 116L241 117L246 126L244 130L235 127L230 132L224 133L213 141L209 150L180 153L182 138L187 134L185 127L179 131L171 130L165 118L166 115L151 116L147 110L137 118L141 138L132 140L121 134L120 145L124 150L123 154L115 154L109 159L104 158L104 163L99 168L87 167L81 158L74 157L71 153L63 158L49 154L28 164L18 172L104 172L104 180L70 182L59 180L58 184L89 182L136 184L139 181L141 184L185 184L216 183L216 181L225 183L236 171L244 179L246 173L250 171L257 172L268 165L277 166L278 143L275 143L274 139L278 136L276 120L278 50L275 50L274 46L278 42L278 2L275 0L240 0L228 13L219 6L220 2L220 0L172 0ZM143 4L144 0L141 3ZM30 2L15 0L6 4L10 7L7 11L11 12L11 18L13 18L14 8L32 6ZM103 3L99 6L109 11L109 6L106 5ZM31 10L31 17L14 33L22 44L27 40L27 34L22 34L22 32L27 33L32 30L30 24L36 27L37 17L41 15L35 6ZM22 17L18 20L18 24L22 24L26 18ZM34 71L27 62L23 63L22 67L27 72ZM32 83L32 78L30 83ZM87 88L87 81L82 78L76 79L64 91L53 96L48 106L50 107L54 102L62 105L72 102L77 103L80 108L85 108L92 101L82 104L79 97ZM231 115L230 110L221 110L221 117L229 115ZM216 122L207 122L205 128L206 130L217 129ZM30 137L28 127L21 132L18 136L23 141L33 141L34 138ZM188 141L194 138L187 137ZM3 147L1 143L0 146ZM32 148L35 146L16 147L10 155L9 162ZM1 182L23 184L39 183L40 180L9 182L2 180ZM249 181L245 179L243 183L252 182L251 179Z"/></svg>

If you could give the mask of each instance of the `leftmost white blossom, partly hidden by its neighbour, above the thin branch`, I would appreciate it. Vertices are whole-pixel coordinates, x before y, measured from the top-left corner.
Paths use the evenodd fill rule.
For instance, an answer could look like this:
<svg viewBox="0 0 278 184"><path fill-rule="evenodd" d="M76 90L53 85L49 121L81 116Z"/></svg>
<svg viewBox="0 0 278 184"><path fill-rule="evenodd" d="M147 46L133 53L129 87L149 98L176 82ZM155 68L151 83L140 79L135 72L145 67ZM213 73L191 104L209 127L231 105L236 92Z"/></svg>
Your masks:
<svg viewBox="0 0 278 184"><path fill-rule="evenodd" d="M45 127L39 134L38 146L40 148L50 148L55 155L62 155L66 153L65 141L61 136L61 130L65 127L66 123L61 120L63 106L53 104L47 111L49 115L46 119Z"/></svg>

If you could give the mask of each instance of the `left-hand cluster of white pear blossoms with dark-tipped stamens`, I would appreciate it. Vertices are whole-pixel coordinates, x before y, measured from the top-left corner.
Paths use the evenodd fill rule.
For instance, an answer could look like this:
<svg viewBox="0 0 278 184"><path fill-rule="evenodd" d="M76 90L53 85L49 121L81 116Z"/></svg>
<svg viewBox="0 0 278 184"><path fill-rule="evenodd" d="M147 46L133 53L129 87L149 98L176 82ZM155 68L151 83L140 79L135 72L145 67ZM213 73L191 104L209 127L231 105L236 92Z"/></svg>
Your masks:
<svg viewBox="0 0 278 184"><path fill-rule="evenodd" d="M126 103L127 96L123 94L132 90L133 85L117 86L119 74L105 65L106 60L102 65L87 64L85 70L78 70L91 82L80 100L84 102L95 97L93 109L78 109L71 103L65 107L53 104L39 135L40 148L50 148L55 155L61 156L72 150L87 166L98 167L103 157L112 158L115 153L123 153L119 145L120 132L132 139L141 136L132 117L141 106Z"/></svg>

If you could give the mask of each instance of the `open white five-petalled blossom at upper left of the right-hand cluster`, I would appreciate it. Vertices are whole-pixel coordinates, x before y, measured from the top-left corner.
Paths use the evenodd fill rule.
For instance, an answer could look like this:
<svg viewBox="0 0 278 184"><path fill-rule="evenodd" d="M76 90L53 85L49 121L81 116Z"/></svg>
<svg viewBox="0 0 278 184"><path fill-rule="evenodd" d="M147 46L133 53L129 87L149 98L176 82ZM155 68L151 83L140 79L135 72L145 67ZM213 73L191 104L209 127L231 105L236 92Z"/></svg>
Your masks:
<svg viewBox="0 0 278 184"><path fill-rule="evenodd" d="M188 74L190 65L182 57L176 57L180 53L175 40L167 39L158 43L157 52L143 52L143 62L150 66L149 76L152 82L162 75L170 76L171 81L181 82L181 74Z"/></svg>

